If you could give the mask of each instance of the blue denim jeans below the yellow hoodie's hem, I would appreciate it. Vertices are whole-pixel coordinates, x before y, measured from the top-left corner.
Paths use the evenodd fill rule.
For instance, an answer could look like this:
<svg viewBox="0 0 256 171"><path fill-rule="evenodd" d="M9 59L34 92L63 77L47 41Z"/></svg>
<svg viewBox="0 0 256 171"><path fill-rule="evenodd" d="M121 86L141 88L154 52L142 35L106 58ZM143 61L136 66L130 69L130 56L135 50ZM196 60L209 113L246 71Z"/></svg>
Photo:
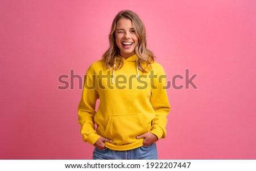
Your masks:
<svg viewBox="0 0 256 171"><path fill-rule="evenodd" d="M153 143L148 147L139 147L127 151L114 151L106 148L100 150L97 147L93 151L93 160L157 160L158 151L156 144Z"/></svg>

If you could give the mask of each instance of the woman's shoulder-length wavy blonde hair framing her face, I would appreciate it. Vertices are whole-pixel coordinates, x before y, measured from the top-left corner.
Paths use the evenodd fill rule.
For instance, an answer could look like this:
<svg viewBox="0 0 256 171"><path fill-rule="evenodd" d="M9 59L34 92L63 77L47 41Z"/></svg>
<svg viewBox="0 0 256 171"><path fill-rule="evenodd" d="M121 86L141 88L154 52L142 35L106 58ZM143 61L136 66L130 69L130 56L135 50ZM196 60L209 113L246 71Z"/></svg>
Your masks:
<svg viewBox="0 0 256 171"><path fill-rule="evenodd" d="M138 57L137 66L139 70L142 72L148 72L152 69L151 63L154 62L155 56L154 53L147 49L147 41L146 41L146 29L142 20L139 16L130 10L120 11L114 18L112 22L111 31L109 34L109 43L110 47L108 51L102 55L102 59L105 61L105 65L108 69L112 68L115 61L115 68L122 68L123 59L119 55L119 48L115 43L115 29L117 26L117 21L119 19L126 18L130 19L134 25L134 30L136 35L138 36L138 45L135 47L135 53ZM115 58L115 60L114 60Z"/></svg>

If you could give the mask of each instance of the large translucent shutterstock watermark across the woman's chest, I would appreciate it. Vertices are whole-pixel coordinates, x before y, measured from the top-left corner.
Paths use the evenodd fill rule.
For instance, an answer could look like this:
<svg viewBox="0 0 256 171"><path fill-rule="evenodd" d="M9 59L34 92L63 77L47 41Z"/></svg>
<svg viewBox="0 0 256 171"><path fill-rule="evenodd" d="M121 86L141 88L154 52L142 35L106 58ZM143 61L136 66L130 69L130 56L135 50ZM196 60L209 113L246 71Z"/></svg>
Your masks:
<svg viewBox="0 0 256 171"><path fill-rule="evenodd" d="M171 87L176 90L180 89L198 89L196 86L194 79L198 76L198 74L190 74L189 69L185 69L184 76L181 74L175 74L172 76L171 80L166 80L167 76L166 75L160 75L157 76L154 73L154 70L151 70L149 74L142 74L138 78L137 76L131 75L129 77L125 75L117 75L114 77L114 80L112 80L112 74L107 72L107 74L103 74L102 70L99 72L97 75L92 75L90 76L90 80L92 80L93 83L97 82L98 80L98 87L100 89L114 89L114 86L116 89L132 89L133 84L135 84L135 79L139 83L137 85L137 89L146 89L148 86L151 86L151 89L170 89ZM75 70L71 69L70 74L61 74L58 77L58 83L61 85L57 86L57 89L59 90L75 90L75 85L76 89L78 88L79 90L82 90L83 86L85 89L96 89L96 84L92 83L84 83L82 78L86 78L88 76L80 76L79 74L75 74ZM77 80L78 83L75 84L75 81ZM102 84L102 81L104 80L105 85ZM149 80L149 81L148 81ZM166 80L166 85L163 87L159 87L158 85L155 85L155 82L158 82L159 84L163 83L163 81ZM114 82L112 82L114 81ZM177 82L183 82L178 84Z"/></svg>

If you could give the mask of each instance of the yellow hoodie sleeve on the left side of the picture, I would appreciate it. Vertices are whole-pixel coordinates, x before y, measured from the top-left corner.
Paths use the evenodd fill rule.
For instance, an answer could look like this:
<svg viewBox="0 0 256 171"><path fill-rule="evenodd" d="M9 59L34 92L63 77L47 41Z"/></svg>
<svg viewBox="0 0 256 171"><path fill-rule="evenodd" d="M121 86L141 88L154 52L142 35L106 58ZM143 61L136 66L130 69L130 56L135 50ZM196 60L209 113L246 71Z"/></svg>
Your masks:
<svg viewBox="0 0 256 171"><path fill-rule="evenodd" d="M78 122L81 125L81 134L84 141L93 145L99 138L94 126L95 106L98 99L95 81L86 73L82 97L78 107Z"/></svg>

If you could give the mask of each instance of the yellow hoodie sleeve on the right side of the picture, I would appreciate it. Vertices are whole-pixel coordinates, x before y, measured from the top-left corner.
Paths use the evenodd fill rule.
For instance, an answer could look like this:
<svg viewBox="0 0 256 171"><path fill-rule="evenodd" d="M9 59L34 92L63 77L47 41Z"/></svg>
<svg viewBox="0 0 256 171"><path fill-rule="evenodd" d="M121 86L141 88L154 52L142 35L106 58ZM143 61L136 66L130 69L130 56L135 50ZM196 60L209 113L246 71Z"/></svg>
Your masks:
<svg viewBox="0 0 256 171"><path fill-rule="evenodd" d="M155 110L155 119L152 120L151 133L158 139L166 137L167 115L171 109L167 91L166 91L166 74L162 66L158 64L155 71L157 77L154 79L154 85L151 85L150 103Z"/></svg>

